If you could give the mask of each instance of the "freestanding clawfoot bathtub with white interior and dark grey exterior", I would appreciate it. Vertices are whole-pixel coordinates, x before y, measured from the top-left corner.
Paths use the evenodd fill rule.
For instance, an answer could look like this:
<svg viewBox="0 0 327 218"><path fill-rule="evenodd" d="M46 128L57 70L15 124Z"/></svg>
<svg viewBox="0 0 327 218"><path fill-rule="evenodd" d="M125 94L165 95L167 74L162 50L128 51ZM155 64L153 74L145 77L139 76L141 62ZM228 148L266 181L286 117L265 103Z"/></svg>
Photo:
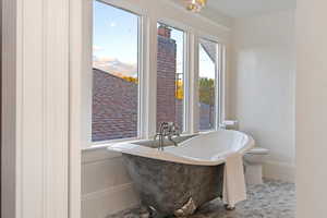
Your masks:
<svg viewBox="0 0 327 218"><path fill-rule="evenodd" d="M119 143L109 150L123 154L128 171L140 193L143 206L162 216L174 214L190 199L197 208L221 197L223 166L232 153L244 154L254 146L251 136L219 130L174 138L178 146L156 141Z"/></svg>

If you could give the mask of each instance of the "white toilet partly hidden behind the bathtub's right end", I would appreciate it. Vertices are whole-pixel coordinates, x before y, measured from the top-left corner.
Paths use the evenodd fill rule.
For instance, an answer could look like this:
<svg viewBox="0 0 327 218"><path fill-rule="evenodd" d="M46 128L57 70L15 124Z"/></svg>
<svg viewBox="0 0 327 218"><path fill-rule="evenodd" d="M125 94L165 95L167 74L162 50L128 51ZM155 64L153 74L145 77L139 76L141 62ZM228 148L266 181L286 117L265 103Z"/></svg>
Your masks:
<svg viewBox="0 0 327 218"><path fill-rule="evenodd" d="M263 183L263 164L269 150L262 147L254 147L244 155L245 181L246 184Z"/></svg>

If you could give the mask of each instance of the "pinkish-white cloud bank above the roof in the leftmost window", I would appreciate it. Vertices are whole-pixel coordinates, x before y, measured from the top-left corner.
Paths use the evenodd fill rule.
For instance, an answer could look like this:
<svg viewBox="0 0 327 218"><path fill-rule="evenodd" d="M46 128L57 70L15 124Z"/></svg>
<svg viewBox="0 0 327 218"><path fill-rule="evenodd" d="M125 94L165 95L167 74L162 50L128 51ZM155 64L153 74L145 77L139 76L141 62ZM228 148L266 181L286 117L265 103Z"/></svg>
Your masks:
<svg viewBox="0 0 327 218"><path fill-rule="evenodd" d="M100 69L102 71L109 72L118 76L136 76L137 75L137 64L136 63L125 63L116 58L105 57L98 58L94 57L93 60L94 68Z"/></svg>

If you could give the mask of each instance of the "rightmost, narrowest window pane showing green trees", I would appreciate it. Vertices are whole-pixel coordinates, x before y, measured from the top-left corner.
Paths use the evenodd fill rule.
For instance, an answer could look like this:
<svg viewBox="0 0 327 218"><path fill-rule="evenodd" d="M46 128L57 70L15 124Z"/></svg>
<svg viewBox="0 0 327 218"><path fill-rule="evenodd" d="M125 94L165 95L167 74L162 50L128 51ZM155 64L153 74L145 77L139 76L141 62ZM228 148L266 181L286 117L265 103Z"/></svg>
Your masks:
<svg viewBox="0 0 327 218"><path fill-rule="evenodd" d="M218 44L201 38L198 45L199 131L217 128L218 80Z"/></svg>

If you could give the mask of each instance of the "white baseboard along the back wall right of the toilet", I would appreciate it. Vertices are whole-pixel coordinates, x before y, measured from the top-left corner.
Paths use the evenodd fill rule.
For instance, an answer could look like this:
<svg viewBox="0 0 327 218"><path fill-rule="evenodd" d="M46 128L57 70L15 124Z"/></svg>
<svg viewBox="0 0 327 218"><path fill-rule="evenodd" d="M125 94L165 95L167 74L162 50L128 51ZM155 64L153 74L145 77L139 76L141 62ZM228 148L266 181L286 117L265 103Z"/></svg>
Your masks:
<svg viewBox="0 0 327 218"><path fill-rule="evenodd" d="M295 166L287 162L267 161L264 164L264 178L295 182Z"/></svg>

